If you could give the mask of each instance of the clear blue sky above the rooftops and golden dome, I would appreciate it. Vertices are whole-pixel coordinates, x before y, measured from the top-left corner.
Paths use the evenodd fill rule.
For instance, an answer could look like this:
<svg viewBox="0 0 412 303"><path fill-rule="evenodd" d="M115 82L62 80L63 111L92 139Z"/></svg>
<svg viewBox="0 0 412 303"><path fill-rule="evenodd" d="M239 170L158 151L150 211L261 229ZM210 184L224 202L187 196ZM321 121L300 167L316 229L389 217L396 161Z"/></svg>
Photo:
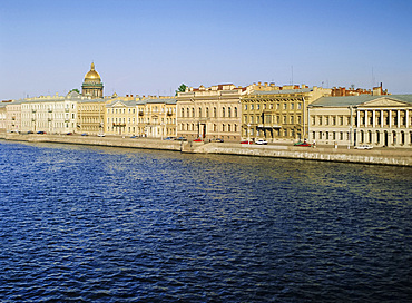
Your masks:
<svg viewBox="0 0 412 303"><path fill-rule="evenodd" d="M0 99L80 89L173 95L184 82L383 82L412 94L412 1L0 0Z"/></svg>

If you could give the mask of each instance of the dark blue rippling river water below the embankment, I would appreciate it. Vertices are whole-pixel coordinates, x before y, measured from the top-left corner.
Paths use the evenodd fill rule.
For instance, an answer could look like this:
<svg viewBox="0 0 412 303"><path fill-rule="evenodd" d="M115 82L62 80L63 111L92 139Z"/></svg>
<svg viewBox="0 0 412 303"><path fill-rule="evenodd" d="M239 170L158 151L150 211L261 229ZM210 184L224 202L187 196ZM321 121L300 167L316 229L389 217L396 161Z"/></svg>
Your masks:
<svg viewBox="0 0 412 303"><path fill-rule="evenodd" d="M412 169L0 141L0 302L412 302Z"/></svg>

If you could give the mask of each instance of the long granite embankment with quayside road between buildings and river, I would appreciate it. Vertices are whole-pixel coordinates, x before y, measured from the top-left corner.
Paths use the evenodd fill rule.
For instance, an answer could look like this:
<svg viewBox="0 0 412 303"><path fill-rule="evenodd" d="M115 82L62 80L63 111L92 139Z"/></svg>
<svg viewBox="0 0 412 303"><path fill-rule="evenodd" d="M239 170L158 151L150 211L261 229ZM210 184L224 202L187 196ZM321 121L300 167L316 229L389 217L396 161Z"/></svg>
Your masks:
<svg viewBox="0 0 412 303"><path fill-rule="evenodd" d="M285 145L241 145L237 143L182 143L148 138L122 138L119 136L65 136L0 134L0 138L30 143L59 143L124 148L146 148L197 154L222 154L241 156L276 157L308 160L330 160L377 165L412 166L412 149L375 148L372 150L345 147L295 147Z"/></svg>

